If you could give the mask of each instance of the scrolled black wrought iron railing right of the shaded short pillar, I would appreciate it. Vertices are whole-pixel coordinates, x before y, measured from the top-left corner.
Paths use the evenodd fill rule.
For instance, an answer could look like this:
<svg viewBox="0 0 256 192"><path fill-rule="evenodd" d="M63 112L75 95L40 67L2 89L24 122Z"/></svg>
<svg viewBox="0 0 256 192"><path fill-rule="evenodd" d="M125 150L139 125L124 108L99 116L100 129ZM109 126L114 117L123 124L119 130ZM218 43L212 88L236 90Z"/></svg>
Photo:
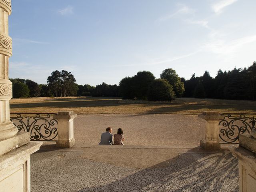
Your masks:
<svg viewBox="0 0 256 192"><path fill-rule="evenodd" d="M238 143L238 135L251 133L255 125L255 113L222 113L220 115L223 116L219 122L220 143Z"/></svg>

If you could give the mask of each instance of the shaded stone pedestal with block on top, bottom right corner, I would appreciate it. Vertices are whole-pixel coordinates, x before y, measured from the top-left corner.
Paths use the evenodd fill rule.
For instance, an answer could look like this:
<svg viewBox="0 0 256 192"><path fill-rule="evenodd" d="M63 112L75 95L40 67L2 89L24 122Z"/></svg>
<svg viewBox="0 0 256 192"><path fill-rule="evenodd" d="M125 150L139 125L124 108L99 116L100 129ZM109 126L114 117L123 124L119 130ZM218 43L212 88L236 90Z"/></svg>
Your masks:
<svg viewBox="0 0 256 192"><path fill-rule="evenodd" d="M242 139L241 139L242 138ZM242 142L241 142L242 141ZM239 134L239 147L230 146L232 155L238 158L239 166L239 191L256 191L256 139L250 134ZM248 149L250 150L248 150Z"/></svg>

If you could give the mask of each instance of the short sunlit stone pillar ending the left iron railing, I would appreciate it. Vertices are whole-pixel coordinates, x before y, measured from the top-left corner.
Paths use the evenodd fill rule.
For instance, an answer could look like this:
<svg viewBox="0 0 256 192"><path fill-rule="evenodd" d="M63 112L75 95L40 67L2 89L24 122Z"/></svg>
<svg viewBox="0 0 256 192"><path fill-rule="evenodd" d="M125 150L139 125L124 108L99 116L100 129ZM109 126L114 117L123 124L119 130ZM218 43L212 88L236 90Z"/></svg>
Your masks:
<svg viewBox="0 0 256 192"><path fill-rule="evenodd" d="M58 120L57 147L70 148L75 144L74 118L77 117L73 111L58 112L53 118Z"/></svg>

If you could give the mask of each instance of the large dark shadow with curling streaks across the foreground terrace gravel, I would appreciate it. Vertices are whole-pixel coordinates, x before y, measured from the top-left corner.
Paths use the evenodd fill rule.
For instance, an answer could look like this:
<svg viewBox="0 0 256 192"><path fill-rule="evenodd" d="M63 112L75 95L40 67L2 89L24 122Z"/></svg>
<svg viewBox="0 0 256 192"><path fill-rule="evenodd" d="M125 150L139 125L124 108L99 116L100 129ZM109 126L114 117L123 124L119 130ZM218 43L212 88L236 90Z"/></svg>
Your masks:
<svg viewBox="0 0 256 192"><path fill-rule="evenodd" d="M164 168L161 167L168 164ZM122 172L120 172L122 174ZM111 173L110 173L111 176ZM102 186L77 192L105 191L238 191L238 160L230 152L180 154L166 162Z"/></svg>

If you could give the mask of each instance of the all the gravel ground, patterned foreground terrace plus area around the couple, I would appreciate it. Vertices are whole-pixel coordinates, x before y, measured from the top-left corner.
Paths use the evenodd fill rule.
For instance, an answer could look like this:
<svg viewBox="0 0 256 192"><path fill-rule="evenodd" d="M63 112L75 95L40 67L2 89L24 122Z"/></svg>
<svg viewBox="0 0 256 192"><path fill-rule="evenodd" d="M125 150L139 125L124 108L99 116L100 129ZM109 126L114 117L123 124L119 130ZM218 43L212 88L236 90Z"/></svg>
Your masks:
<svg viewBox="0 0 256 192"><path fill-rule="evenodd" d="M238 192L230 152L188 148L199 145L204 125L190 115L79 115L74 147L46 145L31 155L31 191ZM98 145L108 126L123 128L125 146Z"/></svg>

